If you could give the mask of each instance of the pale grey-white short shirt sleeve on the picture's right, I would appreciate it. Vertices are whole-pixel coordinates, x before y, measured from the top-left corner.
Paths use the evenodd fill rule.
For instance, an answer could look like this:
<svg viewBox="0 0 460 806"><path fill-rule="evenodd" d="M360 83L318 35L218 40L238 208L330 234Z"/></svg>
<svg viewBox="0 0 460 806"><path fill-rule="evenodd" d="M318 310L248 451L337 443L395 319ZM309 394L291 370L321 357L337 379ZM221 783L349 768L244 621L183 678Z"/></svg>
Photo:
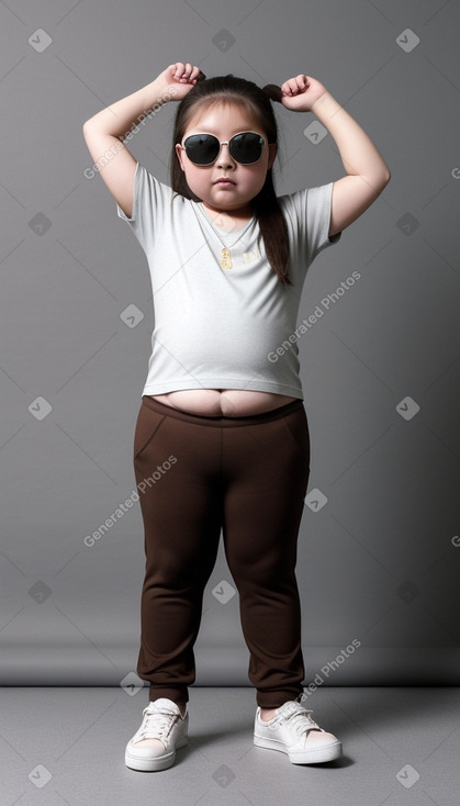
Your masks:
<svg viewBox="0 0 460 806"><path fill-rule="evenodd" d="M287 197L288 209L296 220L300 248L305 248L308 262L327 246L340 240L341 232L328 236L334 182L298 190ZM302 244L303 240L303 244Z"/></svg>

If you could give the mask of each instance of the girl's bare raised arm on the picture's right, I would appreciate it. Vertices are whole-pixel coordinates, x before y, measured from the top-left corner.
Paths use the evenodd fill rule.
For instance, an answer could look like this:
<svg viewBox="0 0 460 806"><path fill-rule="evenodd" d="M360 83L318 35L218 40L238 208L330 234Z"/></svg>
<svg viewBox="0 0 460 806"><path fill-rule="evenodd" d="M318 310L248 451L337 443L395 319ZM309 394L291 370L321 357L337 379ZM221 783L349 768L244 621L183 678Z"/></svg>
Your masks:
<svg viewBox="0 0 460 806"><path fill-rule="evenodd" d="M281 86L281 103L312 112L334 138L347 176L334 182L329 237L356 221L391 179L390 168L359 123L316 79L303 74Z"/></svg>

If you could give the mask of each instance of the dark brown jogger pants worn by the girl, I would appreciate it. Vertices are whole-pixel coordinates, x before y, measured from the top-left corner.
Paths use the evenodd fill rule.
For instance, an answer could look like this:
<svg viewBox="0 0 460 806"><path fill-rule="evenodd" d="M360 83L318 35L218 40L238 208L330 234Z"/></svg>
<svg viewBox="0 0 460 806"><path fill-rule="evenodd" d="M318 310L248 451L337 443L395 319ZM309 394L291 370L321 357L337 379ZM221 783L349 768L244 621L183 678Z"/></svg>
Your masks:
<svg viewBox="0 0 460 806"><path fill-rule="evenodd" d="M294 568L310 473L303 401L228 417L188 414L144 395L134 471L146 555L137 673L150 683L150 701L189 699L221 528L257 704L295 699L304 664Z"/></svg>

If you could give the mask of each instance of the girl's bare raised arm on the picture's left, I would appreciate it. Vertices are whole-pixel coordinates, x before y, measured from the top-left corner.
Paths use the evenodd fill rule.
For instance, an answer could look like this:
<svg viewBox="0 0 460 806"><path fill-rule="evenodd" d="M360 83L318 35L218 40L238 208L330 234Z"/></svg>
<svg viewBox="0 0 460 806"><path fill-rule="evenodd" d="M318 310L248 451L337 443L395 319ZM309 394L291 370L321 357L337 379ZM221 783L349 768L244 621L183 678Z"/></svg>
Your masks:
<svg viewBox="0 0 460 806"><path fill-rule="evenodd" d="M197 83L199 76L199 67L176 61L154 81L106 107L83 123L85 141L96 170L128 219L133 214L137 160L123 141L131 139L142 121L164 103L180 101Z"/></svg>

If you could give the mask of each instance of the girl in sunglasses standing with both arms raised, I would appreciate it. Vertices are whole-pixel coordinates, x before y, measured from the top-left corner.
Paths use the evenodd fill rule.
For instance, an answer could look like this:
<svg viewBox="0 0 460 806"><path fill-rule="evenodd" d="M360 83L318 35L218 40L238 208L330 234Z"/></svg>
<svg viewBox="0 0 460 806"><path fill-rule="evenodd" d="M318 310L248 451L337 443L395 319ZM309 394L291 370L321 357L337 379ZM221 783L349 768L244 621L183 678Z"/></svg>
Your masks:
<svg viewBox="0 0 460 806"><path fill-rule="evenodd" d="M271 98L313 112L347 176L276 195ZM180 101L171 187L123 143L170 100ZM165 770L187 745L193 645L221 528L257 690L254 742L295 764L336 759L340 742L300 702L294 568L310 435L295 327L308 266L379 197L390 170L359 124L303 74L273 91L232 75L205 79L177 61L87 121L83 134L146 254L155 306L134 436L146 553L137 672L150 687L125 763Z"/></svg>

